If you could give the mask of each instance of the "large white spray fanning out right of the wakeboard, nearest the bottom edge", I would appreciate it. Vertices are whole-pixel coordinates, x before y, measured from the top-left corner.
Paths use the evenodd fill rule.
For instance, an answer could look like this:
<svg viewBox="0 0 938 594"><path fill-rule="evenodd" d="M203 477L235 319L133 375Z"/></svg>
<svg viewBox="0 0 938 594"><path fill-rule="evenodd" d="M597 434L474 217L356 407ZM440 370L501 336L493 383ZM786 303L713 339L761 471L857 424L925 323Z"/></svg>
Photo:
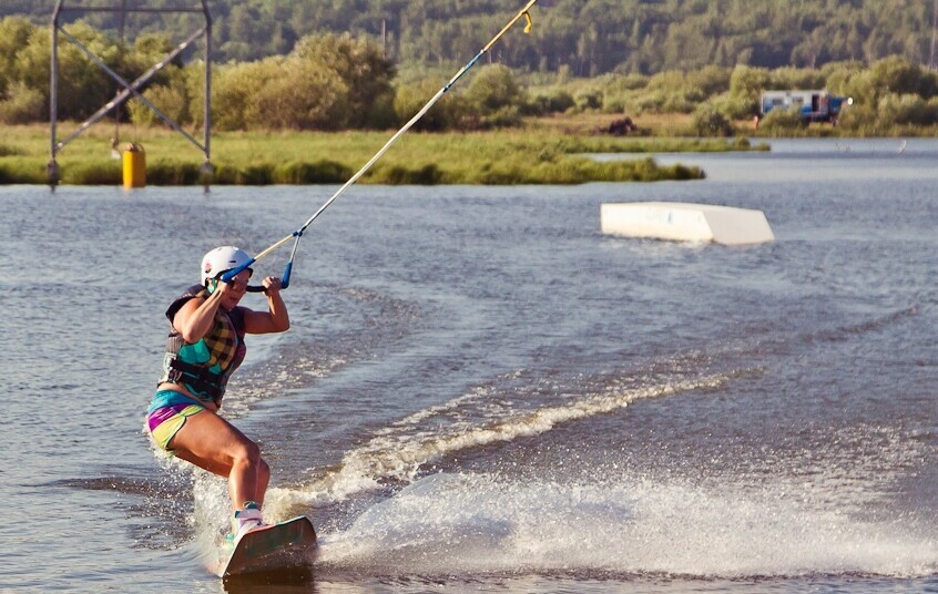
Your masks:
<svg viewBox="0 0 938 594"><path fill-rule="evenodd" d="M324 567L392 575L563 572L691 577L938 571L934 526L871 523L771 490L606 477L595 484L421 479L341 532Z"/></svg>

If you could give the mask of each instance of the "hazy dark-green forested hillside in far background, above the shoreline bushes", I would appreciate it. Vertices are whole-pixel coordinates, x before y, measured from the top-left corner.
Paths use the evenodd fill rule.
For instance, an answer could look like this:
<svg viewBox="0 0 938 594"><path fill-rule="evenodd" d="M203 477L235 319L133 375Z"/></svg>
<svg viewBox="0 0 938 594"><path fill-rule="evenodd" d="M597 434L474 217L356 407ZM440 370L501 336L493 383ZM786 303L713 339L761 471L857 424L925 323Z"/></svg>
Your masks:
<svg viewBox="0 0 938 594"><path fill-rule="evenodd" d="M73 0L69 6L91 4ZM0 17L48 22L49 2L4 0ZM216 59L285 55L310 34L367 37L396 64L465 63L521 0L212 0ZM129 6L201 7L198 0L130 0ZM541 0L530 35L509 35L490 57L528 72L574 76L667 70L820 68L900 55L936 66L936 6L924 0ZM70 12L114 33L120 18ZM140 33L194 30L193 14L132 13Z"/></svg>

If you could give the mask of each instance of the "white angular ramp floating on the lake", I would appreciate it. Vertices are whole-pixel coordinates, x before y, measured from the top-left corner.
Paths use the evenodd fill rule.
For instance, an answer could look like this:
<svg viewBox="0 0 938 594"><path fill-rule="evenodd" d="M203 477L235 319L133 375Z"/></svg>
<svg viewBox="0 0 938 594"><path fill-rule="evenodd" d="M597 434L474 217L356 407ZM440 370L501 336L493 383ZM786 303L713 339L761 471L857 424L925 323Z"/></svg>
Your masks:
<svg viewBox="0 0 938 594"><path fill-rule="evenodd" d="M680 202L603 204L602 233L674 242L713 242L723 245L775 240L762 211Z"/></svg>

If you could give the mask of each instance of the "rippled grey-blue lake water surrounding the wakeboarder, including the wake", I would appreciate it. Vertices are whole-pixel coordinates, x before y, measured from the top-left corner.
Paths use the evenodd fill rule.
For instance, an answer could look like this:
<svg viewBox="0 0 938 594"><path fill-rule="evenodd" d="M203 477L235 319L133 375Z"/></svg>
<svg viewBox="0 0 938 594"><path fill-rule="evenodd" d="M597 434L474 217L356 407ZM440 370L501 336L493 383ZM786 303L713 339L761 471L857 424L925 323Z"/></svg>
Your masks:
<svg viewBox="0 0 938 594"><path fill-rule="evenodd" d="M225 399L268 520L319 533L274 585L208 572L224 483L143 414L202 254L335 187L0 187L0 591L938 592L938 142L772 144L659 156L699 182L346 192ZM632 201L777 240L601 235Z"/></svg>

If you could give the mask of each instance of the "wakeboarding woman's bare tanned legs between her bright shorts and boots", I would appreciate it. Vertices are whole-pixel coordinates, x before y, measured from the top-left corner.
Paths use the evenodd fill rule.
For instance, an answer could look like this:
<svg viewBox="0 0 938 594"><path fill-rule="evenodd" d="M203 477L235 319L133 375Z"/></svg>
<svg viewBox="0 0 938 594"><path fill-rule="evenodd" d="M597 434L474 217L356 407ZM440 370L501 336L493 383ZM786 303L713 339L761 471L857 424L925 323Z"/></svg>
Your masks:
<svg viewBox="0 0 938 594"><path fill-rule="evenodd" d="M257 444L223 418L207 410L188 417L169 445L186 462L227 478L234 510L246 501L263 504L271 469Z"/></svg>

